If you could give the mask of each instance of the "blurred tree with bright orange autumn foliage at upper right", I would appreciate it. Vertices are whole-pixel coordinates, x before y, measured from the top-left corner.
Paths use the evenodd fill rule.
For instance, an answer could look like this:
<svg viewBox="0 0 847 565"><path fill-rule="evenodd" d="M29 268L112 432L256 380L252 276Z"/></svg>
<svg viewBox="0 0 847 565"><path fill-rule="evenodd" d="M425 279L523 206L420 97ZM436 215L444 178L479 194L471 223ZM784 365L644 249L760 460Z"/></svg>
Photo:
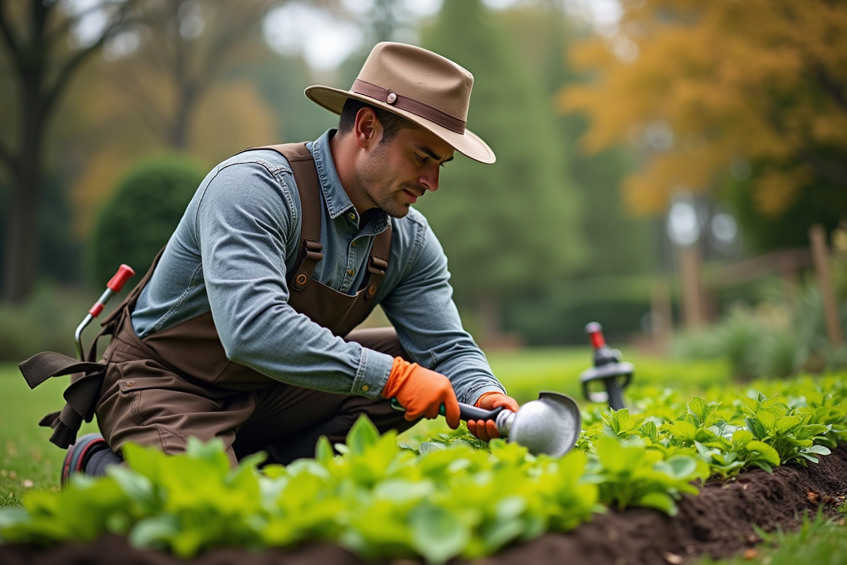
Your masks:
<svg viewBox="0 0 847 565"><path fill-rule="evenodd" d="M812 215L847 213L847 4L621 6L616 35L573 52L597 80L567 87L561 102L589 114L591 151L628 140L652 150L625 183L628 208L659 212L678 186L705 191L734 177L766 219L790 223L821 187L840 197Z"/></svg>

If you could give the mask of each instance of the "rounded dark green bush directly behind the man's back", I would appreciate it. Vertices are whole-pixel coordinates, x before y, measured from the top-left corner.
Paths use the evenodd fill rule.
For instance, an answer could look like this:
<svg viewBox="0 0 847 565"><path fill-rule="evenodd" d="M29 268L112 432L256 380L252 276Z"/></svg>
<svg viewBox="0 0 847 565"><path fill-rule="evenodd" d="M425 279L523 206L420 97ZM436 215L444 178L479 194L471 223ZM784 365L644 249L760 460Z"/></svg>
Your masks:
<svg viewBox="0 0 847 565"><path fill-rule="evenodd" d="M89 242L89 278L101 288L121 263L147 271L174 232L205 171L179 154L146 158L100 210Z"/></svg>

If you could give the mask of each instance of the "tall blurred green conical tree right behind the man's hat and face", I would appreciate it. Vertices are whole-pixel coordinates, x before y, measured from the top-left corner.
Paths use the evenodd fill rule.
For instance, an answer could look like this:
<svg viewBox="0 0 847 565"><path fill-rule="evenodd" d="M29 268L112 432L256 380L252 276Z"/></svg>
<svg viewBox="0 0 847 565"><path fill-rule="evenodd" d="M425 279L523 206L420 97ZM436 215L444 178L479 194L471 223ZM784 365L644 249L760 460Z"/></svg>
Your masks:
<svg viewBox="0 0 847 565"><path fill-rule="evenodd" d="M584 259L581 202L544 89L479 0L445 3L424 47L474 76L468 127L497 153L483 165L457 154L444 193L424 198L457 300L477 302L496 332L509 293L542 288Z"/></svg>

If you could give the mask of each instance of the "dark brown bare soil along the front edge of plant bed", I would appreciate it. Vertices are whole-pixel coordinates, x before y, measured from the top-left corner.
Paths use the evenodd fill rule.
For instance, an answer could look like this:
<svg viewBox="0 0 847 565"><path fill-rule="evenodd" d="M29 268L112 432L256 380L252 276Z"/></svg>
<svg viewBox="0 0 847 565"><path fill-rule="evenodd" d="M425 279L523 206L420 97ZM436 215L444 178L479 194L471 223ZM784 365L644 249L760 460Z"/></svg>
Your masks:
<svg viewBox="0 0 847 565"><path fill-rule="evenodd" d="M834 513L839 497L847 494L847 449L834 450L808 468L785 465L773 474L756 469L726 484L710 481L699 496L685 496L679 513L633 508L598 516L568 534L546 534L512 546L475 565L528 565L560 562L596 565L667 565L691 562L709 555L731 557L759 538L752 528L795 529L803 512L823 506ZM0 546L3 565L182 565L176 557L130 548L124 538L106 536L86 546L52 548ZM353 565L364 563L340 547L302 546L294 551L222 549L208 551L191 565ZM398 560L395 565L412 563ZM465 562L457 562L457 565Z"/></svg>

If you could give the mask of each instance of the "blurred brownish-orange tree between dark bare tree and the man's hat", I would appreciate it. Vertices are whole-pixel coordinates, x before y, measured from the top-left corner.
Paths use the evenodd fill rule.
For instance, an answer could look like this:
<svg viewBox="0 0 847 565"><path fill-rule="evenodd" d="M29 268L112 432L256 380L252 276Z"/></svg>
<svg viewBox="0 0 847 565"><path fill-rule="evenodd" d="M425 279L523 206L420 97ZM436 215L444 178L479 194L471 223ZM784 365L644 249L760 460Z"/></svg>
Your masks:
<svg viewBox="0 0 847 565"><path fill-rule="evenodd" d="M81 238L139 155L174 147L210 167L279 139L279 116L260 92L262 77L242 69L274 72L271 63L280 58L263 42L261 25L285 0L145 2L146 25L108 46L91 74L100 87L73 108L86 114L87 151L78 159L85 166L70 177Z"/></svg>

